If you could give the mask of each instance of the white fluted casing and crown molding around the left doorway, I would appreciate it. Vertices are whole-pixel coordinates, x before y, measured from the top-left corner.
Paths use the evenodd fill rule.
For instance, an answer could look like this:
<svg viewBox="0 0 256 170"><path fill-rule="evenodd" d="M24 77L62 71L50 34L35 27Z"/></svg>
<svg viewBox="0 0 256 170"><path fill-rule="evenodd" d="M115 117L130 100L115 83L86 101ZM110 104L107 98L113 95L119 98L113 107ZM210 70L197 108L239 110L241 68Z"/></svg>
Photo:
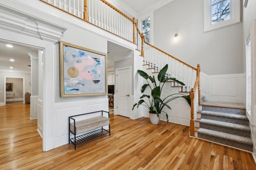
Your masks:
<svg viewBox="0 0 256 170"><path fill-rule="evenodd" d="M55 43L67 29L36 17L18 12L0 4L0 39L43 49L42 103L38 102L38 112L42 113L43 151L54 148L54 94L55 90ZM39 96L40 97L40 96ZM41 101L41 99L38 99Z"/></svg>

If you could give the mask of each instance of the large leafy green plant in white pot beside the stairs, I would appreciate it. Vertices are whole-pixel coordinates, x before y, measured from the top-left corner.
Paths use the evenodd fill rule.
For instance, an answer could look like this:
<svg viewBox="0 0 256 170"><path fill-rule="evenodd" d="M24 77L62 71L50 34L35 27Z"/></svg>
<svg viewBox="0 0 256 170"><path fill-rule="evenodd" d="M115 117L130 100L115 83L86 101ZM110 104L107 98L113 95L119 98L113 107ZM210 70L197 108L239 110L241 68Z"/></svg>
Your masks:
<svg viewBox="0 0 256 170"><path fill-rule="evenodd" d="M164 109L164 107L166 106L168 109L171 109L169 105L167 105L170 101L178 98L178 97L183 97L186 99L186 101L188 103L190 103L190 97L189 95L183 95L183 94L172 94L172 95L168 95L167 97L165 97L164 99L160 99L161 93L162 93L162 89L164 84L166 83L166 81L172 80L175 81L177 83L179 83L180 85L185 85L184 83L182 83L181 81L178 81L176 78L166 78L166 71L168 70L168 64L166 64L161 71L158 73L158 82L156 82L156 79L153 75L153 77L149 76L147 73L145 73L142 70L138 70L138 74L140 76L142 76L144 79L146 79L147 83L144 84L141 88L141 92L144 93L145 89L147 87L149 87L151 89L151 97L150 95L142 95L140 97L140 101L138 101L138 103L135 103L133 105L132 110L134 109L134 107L137 105L137 108L139 107L139 105L143 105L146 108L148 108L148 112L150 115L150 121L152 124L157 125L159 123L160 120L160 114L162 111L162 109ZM148 81L150 80L150 82ZM178 95L178 96L177 96ZM146 103L146 101L144 101L143 98L147 98L148 99L148 103ZM166 112L164 112L166 114L166 120L167 122L169 121L168 119L168 114Z"/></svg>

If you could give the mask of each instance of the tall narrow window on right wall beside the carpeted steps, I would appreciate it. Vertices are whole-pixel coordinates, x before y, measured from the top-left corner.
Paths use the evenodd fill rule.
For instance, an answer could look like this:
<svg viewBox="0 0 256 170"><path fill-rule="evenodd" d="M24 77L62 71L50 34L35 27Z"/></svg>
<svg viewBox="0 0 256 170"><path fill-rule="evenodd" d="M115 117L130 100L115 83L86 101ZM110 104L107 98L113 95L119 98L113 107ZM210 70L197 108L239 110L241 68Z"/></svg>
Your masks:
<svg viewBox="0 0 256 170"><path fill-rule="evenodd" d="M251 78L251 38L249 36L246 42L246 111L251 115L251 94L252 94L252 78Z"/></svg>

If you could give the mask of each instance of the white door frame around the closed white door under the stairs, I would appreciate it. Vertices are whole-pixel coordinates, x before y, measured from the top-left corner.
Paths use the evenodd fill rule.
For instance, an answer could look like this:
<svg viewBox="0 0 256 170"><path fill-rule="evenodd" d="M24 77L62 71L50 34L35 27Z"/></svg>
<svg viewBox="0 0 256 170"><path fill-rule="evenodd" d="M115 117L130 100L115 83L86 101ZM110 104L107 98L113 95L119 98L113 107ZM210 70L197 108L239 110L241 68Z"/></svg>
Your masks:
<svg viewBox="0 0 256 170"><path fill-rule="evenodd" d="M130 97L129 97L129 106L128 106L128 108L130 108L131 107L131 99L132 99L132 66L128 66L128 67L120 67L120 68L116 68L115 69L115 85L116 85L116 90L118 89L118 83L117 83L117 77L118 76L116 76L117 75L117 71L120 71L120 70L124 70L124 69L130 69L130 71L129 71L129 73L130 73L130 80L128 80L129 82L130 82ZM117 99L117 101L119 101L119 97L118 97L118 94L117 93L115 93L115 95L116 96L114 96L114 99ZM119 107L119 105L118 105L118 102L114 102L114 108L116 108L117 109L117 112L115 112L114 114L115 115L118 115L118 112L119 112L119 109L120 109L120 107ZM131 118L132 117L132 112L130 113L130 117L129 118Z"/></svg>

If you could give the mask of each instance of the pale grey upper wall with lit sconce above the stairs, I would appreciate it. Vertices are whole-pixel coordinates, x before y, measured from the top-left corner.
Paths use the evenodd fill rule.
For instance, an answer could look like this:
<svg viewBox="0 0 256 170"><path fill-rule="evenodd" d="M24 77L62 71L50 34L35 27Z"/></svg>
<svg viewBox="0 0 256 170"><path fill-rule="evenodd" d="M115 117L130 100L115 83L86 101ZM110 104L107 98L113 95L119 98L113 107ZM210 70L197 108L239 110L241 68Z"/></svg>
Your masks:
<svg viewBox="0 0 256 170"><path fill-rule="evenodd" d="M202 0L174 0L153 20L156 47L208 75L242 73L241 23L203 33Z"/></svg>

